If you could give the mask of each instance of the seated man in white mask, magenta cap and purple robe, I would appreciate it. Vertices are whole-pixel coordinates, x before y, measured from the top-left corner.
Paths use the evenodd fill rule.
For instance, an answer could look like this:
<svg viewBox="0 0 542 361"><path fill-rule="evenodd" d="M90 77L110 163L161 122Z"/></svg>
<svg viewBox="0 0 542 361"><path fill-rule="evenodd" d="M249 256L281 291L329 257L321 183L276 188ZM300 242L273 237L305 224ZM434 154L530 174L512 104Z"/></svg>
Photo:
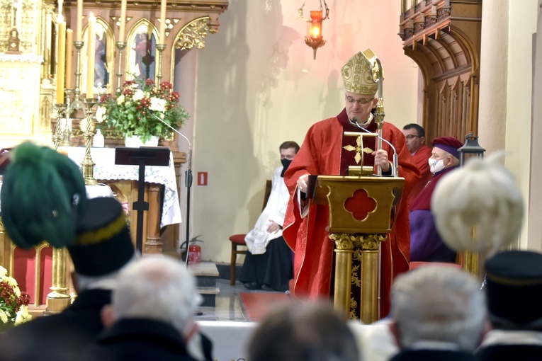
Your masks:
<svg viewBox="0 0 542 361"><path fill-rule="evenodd" d="M431 144L428 162L433 178L410 204L410 260L455 262L456 253L444 244L436 230L431 195L442 177L459 166L458 149L463 144L455 137L436 138Z"/></svg>

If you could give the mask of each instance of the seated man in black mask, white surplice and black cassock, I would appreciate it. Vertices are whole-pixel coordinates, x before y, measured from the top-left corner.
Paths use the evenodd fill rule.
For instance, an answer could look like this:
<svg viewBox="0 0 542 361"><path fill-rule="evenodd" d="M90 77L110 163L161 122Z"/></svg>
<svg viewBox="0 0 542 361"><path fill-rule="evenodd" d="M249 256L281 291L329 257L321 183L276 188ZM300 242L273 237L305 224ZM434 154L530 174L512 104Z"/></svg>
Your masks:
<svg viewBox="0 0 542 361"><path fill-rule="evenodd" d="M288 188L284 172L298 154L299 145L288 141L278 147L282 166L276 168L271 179L271 193L264 211L244 241L249 250L244 258L240 280L249 290L288 290L293 278L291 251L282 237L282 226L288 205Z"/></svg>

